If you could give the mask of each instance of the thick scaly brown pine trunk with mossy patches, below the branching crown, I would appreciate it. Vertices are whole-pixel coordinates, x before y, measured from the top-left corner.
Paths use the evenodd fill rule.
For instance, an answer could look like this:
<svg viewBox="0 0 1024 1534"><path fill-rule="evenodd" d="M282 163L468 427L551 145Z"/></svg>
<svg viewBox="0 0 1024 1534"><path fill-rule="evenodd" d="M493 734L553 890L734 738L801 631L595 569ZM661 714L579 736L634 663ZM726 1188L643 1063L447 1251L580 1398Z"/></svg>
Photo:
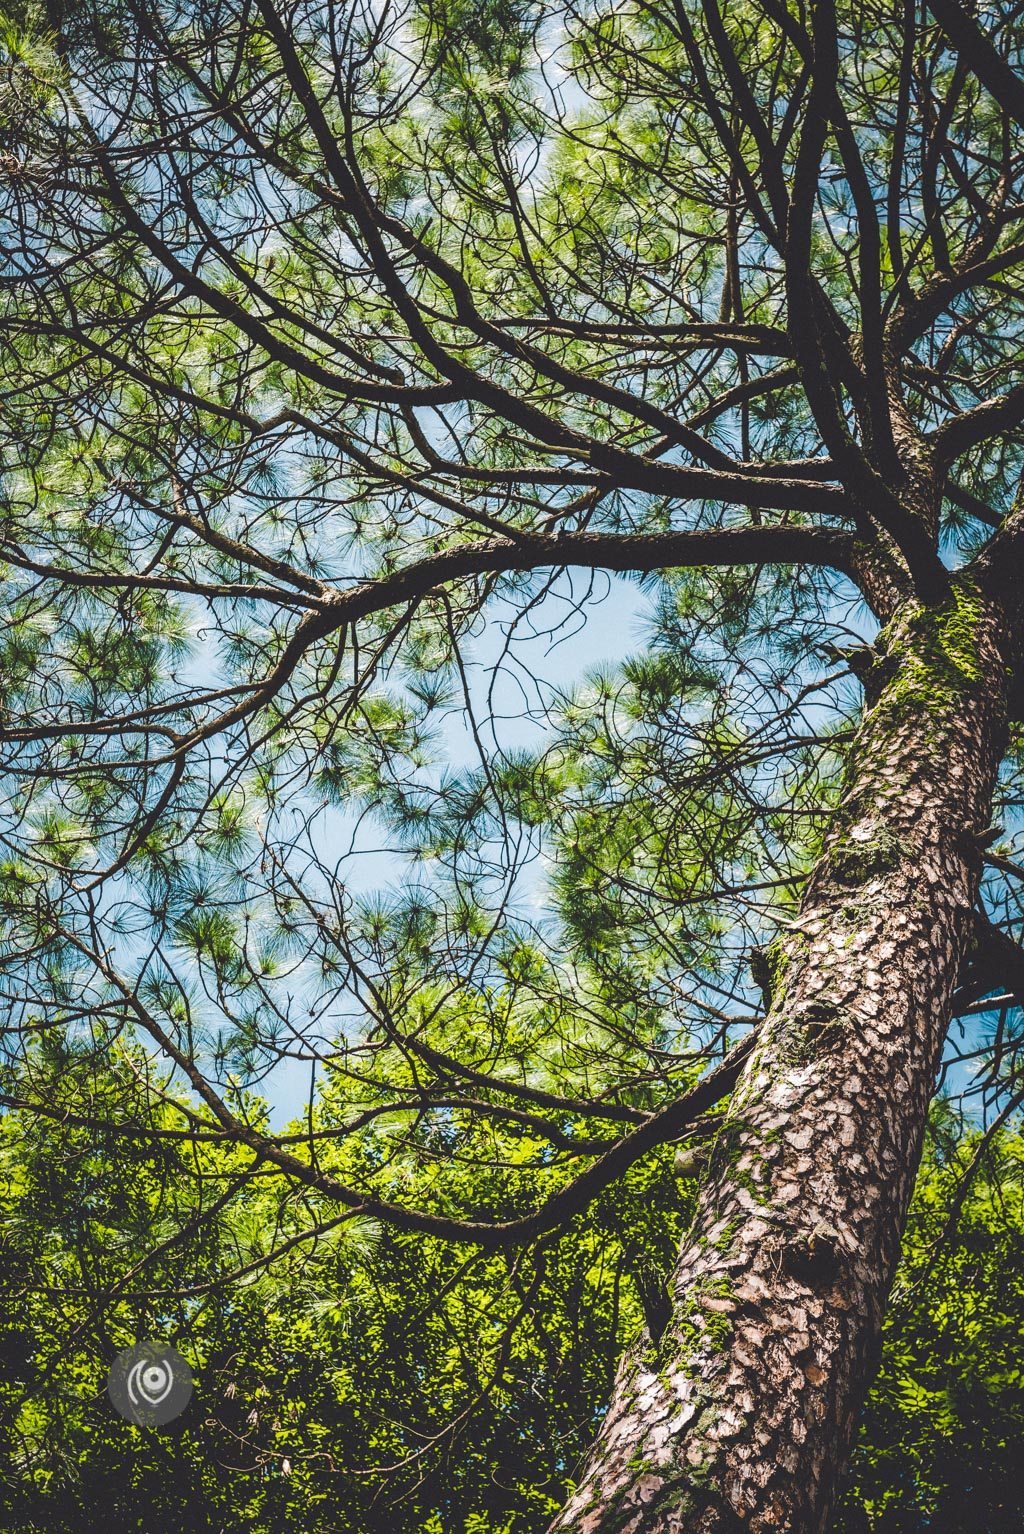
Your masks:
<svg viewBox="0 0 1024 1534"><path fill-rule="evenodd" d="M973 586L883 632L845 795L771 953L661 1338L625 1356L572 1534L826 1528L871 1379L1004 738ZM868 689L869 695L874 689Z"/></svg>

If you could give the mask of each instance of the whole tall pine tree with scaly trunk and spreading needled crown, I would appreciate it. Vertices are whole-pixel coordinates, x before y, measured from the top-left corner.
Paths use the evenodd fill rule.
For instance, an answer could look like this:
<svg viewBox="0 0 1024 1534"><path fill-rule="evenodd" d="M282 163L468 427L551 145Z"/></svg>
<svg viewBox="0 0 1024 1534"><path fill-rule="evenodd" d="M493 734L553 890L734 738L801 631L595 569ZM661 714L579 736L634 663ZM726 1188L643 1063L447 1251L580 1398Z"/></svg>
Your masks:
<svg viewBox="0 0 1024 1534"><path fill-rule="evenodd" d="M1022 44L957 0L5 25L8 1100L106 1124L130 1037L133 1132L170 1068L242 1181L484 1253L684 1140L563 1534L823 1529L953 1017L1013 1101ZM494 744L474 644L595 572L642 653Z"/></svg>

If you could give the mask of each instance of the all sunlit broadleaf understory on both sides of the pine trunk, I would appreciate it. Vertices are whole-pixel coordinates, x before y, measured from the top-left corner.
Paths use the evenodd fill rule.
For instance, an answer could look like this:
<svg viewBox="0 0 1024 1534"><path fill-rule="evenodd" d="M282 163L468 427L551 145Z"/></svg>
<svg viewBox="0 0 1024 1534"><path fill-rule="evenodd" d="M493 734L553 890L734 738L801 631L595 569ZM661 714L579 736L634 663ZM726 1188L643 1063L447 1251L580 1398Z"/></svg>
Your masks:
<svg viewBox="0 0 1024 1534"><path fill-rule="evenodd" d="M984 1144L950 1229L980 1149L940 1106L843 1534L1019 1528L1024 1140ZM0 1157L17 1207L0 1246L5 1534L78 1534L100 1508L110 1534L535 1534L642 1325L642 1264L670 1256L687 1207L662 1163L529 1258L359 1223L261 1264L314 1212L259 1183L159 1250L187 1224L196 1172L213 1187L238 1174L224 1147L8 1120ZM429 1177L403 1163L429 1204ZM498 1174L468 1175L477 1200L500 1197ZM207 1287L225 1267L248 1272ZM104 1394L113 1353L155 1327L196 1374L161 1433Z"/></svg>

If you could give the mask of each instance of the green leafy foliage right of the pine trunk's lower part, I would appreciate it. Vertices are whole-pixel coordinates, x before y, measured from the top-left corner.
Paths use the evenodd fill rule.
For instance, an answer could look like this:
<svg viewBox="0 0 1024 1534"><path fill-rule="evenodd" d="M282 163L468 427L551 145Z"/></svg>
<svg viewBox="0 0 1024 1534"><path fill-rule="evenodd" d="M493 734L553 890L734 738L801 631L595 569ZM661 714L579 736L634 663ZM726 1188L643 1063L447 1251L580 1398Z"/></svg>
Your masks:
<svg viewBox="0 0 1024 1534"><path fill-rule="evenodd" d="M837 1534L1012 1534L1024 1519L1024 1138L935 1135Z"/></svg>

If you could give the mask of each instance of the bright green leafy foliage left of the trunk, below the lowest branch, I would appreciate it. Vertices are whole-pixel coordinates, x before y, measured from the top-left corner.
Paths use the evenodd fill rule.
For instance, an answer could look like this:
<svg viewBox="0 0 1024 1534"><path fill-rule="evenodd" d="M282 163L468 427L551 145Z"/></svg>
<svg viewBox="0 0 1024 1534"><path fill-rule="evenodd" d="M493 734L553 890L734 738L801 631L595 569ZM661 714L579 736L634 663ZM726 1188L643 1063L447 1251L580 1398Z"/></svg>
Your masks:
<svg viewBox="0 0 1024 1534"><path fill-rule="evenodd" d="M126 1078L95 1106L123 1104ZM166 1111L153 1131L179 1124ZM2 1124L11 1534L71 1534L100 1513L117 1534L540 1529L639 1325L635 1261L670 1253L684 1213L659 1161L526 1253L474 1255L359 1220L271 1262L333 1210L247 1181L196 1221L241 1152L60 1118L26 1127ZM446 1138L474 1149L458 1115ZM472 1198L501 1210L541 1147L486 1138L494 1170L455 1155L441 1186L397 1126L325 1158L353 1178L385 1166L425 1207L466 1198L471 1180ZM207 1292L230 1272L242 1276ZM103 1396L113 1353L143 1333L173 1339L198 1379L166 1436L121 1422Z"/></svg>

